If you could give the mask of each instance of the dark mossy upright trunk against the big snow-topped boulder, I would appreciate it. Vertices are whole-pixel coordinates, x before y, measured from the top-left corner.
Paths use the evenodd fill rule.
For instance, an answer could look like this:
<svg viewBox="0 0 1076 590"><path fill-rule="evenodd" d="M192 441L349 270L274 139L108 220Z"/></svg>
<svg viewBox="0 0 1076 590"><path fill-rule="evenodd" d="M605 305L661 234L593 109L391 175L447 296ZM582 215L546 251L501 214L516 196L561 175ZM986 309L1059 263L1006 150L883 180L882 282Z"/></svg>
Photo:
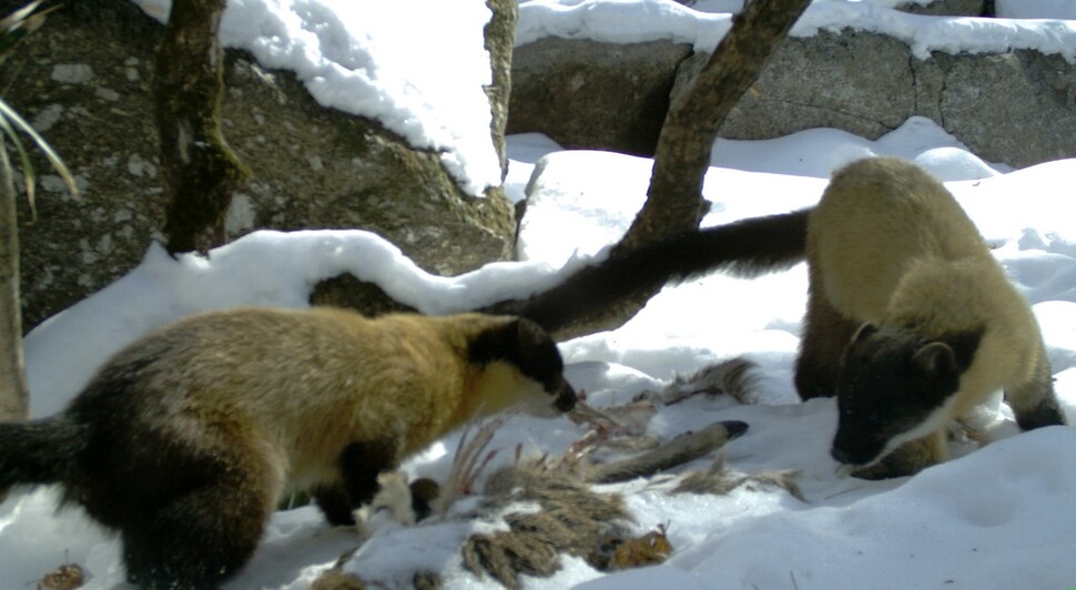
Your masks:
<svg viewBox="0 0 1076 590"><path fill-rule="evenodd" d="M232 192L251 175L221 132L224 50L217 31L224 4L175 0L158 50L154 101L172 254L223 244Z"/></svg>

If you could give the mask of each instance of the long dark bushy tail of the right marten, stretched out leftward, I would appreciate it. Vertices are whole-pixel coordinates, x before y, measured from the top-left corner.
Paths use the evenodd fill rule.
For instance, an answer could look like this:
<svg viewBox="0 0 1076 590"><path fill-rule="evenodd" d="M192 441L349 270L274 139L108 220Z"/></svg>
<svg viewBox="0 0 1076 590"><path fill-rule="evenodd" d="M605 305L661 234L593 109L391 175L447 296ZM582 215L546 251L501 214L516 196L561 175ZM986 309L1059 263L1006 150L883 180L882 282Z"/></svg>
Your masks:
<svg viewBox="0 0 1076 590"><path fill-rule="evenodd" d="M509 313L552 332L640 289L715 271L744 277L782 271L805 258L809 214L750 217L650 242L579 271Z"/></svg>

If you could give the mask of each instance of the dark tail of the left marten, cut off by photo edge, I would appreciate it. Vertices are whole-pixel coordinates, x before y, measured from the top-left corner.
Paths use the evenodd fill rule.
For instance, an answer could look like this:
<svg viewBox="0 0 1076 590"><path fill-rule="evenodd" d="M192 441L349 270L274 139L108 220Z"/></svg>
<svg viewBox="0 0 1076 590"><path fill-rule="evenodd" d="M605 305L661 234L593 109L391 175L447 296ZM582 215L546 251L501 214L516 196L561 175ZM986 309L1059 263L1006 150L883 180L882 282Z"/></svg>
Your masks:
<svg viewBox="0 0 1076 590"><path fill-rule="evenodd" d="M68 481L83 444L67 416L0 424L0 495L12 486Z"/></svg>

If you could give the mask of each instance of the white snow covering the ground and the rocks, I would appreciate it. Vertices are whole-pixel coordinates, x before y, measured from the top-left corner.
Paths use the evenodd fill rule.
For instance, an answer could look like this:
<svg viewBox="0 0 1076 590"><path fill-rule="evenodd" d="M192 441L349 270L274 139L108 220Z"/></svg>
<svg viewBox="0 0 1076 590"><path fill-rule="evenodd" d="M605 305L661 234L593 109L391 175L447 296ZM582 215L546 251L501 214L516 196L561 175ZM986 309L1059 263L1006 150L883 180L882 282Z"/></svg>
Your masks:
<svg viewBox="0 0 1076 590"><path fill-rule="evenodd" d="M456 98L410 79L399 84L410 89L414 96L394 96L387 90L398 82L394 78L398 72L408 71L410 75L410 65L393 61L388 53L417 47L416 39L449 31L436 41L444 45L438 47L438 54L446 55L453 65L463 65L471 58L475 63L480 61L475 57L480 42L479 49L474 44L476 35L480 39L480 11L471 13L467 8L480 3L443 2L455 11L440 11L436 1L398 3L408 7L408 16L436 16L418 23L420 19L393 12L389 3L377 4L384 12L378 14L383 18L375 19L368 13L356 17L346 12L352 3L343 0L233 0L229 9L233 16L226 17L225 30L233 39L261 45L265 54L258 54L258 60L270 61L263 65L313 72L307 79L312 93L319 88L323 96L336 96L342 102L354 94L352 106L338 108L387 102L396 106L368 114L422 120L414 122L422 128L415 132L422 138L413 141L430 141L440 133L426 126L429 121L436 123L434 126L481 126L488 139L488 119L479 124L478 118L465 122L469 116L464 111L456 116L463 102L478 101L473 93ZM140 3L151 13L166 14L168 4L159 0ZM720 3L700 1L696 8ZM1046 0L997 4L999 10L1035 18L1065 17L1068 6ZM1015 47L984 30L978 19L904 18L884 6L884 1L816 2L811 10L855 13L860 19L855 22L862 23L856 26L862 27L899 23L911 39L927 39L936 33L924 31L943 23L950 27L953 47L979 43L973 39L978 34L1002 43L994 50ZM656 0L536 0L522 3L520 28L532 27L529 19L538 18L534 14L541 11L568 14L560 18L569 19L578 34L590 34L592 27L600 27L595 22L601 19L585 19L581 14L586 10L572 12L569 9L573 7L610 11L600 14L619 19L626 34L637 33L637 40L646 38L643 29L652 22L684 19L682 14L692 11ZM354 10L361 9L356 6ZM632 10L641 12L629 12ZM461 13L459 28L453 20L455 12ZM647 14L646 23L629 18L639 13ZM394 17L406 22L394 22ZM877 20L872 24L866 22L869 18ZM356 22L370 23L377 34L373 29L358 29ZM678 22L683 26L688 21ZM1058 30L1068 31L1072 23L998 23L1008 27L1022 42L1044 37L1050 40L1034 42L1043 47L1057 43L1057 51L1065 55L1076 49L1068 33L1055 35ZM397 37L405 34L414 37ZM459 54L451 53L457 50ZM337 53L329 59L326 51ZM460 57L465 54L470 58ZM444 63L440 67L445 69ZM469 67L451 68L451 79L467 80L467 70ZM356 77L363 79L362 83ZM480 83L476 78L457 85ZM367 94L361 88L374 90ZM370 95L377 100L369 100ZM425 108L416 105L427 101L429 112L439 114L429 119L416 114ZM445 116L446 112L454 114ZM485 148L471 152L474 144L467 143L465 133L446 133L449 139L443 140L444 145L455 154L450 157L469 163L488 156L483 155ZM642 202L652 165L649 160L626 155L562 151L535 134L510 138L508 150L511 167L506 190L514 199L521 199L529 185L532 200L521 232L525 262L490 264L458 277L436 277L417 268L392 244L361 231L257 232L214 251L209 260L172 260L154 245L138 268L26 338L33 415L60 409L111 353L155 326L199 311L235 305L301 307L314 283L344 271L375 282L392 296L430 314L540 291L622 234ZM763 142L719 141L704 184L712 207L703 223L721 224L809 206L818 200L834 167L874 154L914 160L946 181L995 246L994 254L1014 284L1033 304L1063 408L1070 421L1076 418L1076 224L1069 189L1076 160L1014 171L1004 163L982 161L924 119L912 119L875 141L835 130L811 130ZM992 441L983 448L957 445L955 459L911 478L875 482L838 477L829 457L836 420L834 404L831 399L801 404L791 384L805 288L802 265L752 281L713 275L663 289L620 329L564 343L561 352L568 363L568 378L577 388L586 389L596 404L626 401L718 359L743 355L754 360L761 375L758 404L739 405L723 397L691 398L662 408L651 421L650 433L669 439L717 420L743 420L750 429L730 444L730 467L749 474L798 469L808 501L767 489L740 489L728 496L672 496L668 494L672 486L668 477L605 486L602 490L626 496L639 532L668 525L674 548L671 558L658 567L613 574L566 558L555 577L527 578L527 588L1076 586L1076 563L1072 560L1076 551L1076 537L1072 535L1076 529L1072 509L1076 497L1076 429L1053 427L1021 434L1008 409L999 405L984 410ZM567 419L514 417L493 445L510 449L522 442L530 452L557 454L581 434ZM407 471L443 478L458 436L451 435L413 458ZM688 467L703 465L698 461ZM31 586L68 562L85 570L87 588L123 588L123 564L114 536L79 509L57 512L55 499L54 490L40 489L13 494L0 505L0 588ZM488 580L466 572L459 559L460 539L477 526L459 519L409 528L386 526L348 568L372 581L407 586L410 572L422 566L440 572L446 588L491 588ZM226 588L306 588L341 553L358 543L354 531L329 528L314 508L278 512L252 562Z"/></svg>

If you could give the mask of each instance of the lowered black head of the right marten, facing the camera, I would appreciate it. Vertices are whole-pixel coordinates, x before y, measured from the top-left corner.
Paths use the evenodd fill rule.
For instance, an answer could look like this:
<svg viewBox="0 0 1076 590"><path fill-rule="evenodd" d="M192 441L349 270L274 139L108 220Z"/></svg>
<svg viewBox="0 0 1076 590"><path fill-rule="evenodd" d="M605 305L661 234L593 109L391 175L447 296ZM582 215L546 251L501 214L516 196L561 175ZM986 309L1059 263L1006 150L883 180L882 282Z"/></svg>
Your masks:
<svg viewBox="0 0 1076 590"><path fill-rule="evenodd" d="M944 426L978 340L979 334L930 340L911 330L861 327L838 378L833 458L870 466Z"/></svg>

